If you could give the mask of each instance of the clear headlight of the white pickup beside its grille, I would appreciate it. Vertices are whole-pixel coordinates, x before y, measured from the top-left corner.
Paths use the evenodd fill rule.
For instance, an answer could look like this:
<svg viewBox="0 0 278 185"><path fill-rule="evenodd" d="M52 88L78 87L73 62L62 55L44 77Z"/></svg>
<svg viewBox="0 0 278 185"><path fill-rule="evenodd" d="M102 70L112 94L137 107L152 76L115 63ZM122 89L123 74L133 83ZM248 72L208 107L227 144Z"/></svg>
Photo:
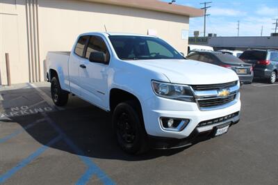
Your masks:
<svg viewBox="0 0 278 185"><path fill-rule="evenodd" d="M154 93L160 97L195 102L193 92L189 86L152 81L152 88L154 89Z"/></svg>

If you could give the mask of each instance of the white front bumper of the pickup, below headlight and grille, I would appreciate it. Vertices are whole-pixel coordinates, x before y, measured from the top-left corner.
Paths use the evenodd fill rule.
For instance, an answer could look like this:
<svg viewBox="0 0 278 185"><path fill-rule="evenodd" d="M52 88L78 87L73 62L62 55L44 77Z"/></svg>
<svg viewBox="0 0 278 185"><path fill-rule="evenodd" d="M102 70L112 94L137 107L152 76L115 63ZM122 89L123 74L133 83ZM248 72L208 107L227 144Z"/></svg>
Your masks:
<svg viewBox="0 0 278 185"><path fill-rule="evenodd" d="M240 104L240 93L236 95L236 99L231 106L211 111L201 111L197 104L193 102L182 102L154 96L142 104L142 111L145 129L149 136L183 139L190 136L196 129L199 132L206 132L211 131L215 126L223 124L223 122L218 122L217 124L204 126L202 129L197 128L199 122L213 120L240 111ZM161 127L161 117L188 119L190 122L181 131L167 131ZM239 115L235 119L239 120ZM237 122L237 120L231 121Z"/></svg>

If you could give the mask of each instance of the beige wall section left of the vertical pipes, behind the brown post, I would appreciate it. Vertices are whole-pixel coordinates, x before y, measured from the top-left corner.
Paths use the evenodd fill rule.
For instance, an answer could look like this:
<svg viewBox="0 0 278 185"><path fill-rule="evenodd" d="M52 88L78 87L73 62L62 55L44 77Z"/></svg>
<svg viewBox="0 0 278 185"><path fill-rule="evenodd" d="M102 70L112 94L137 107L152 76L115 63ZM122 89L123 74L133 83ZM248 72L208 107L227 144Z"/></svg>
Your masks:
<svg viewBox="0 0 278 185"><path fill-rule="evenodd" d="M5 53L10 55L12 83L28 81L25 6L19 0L0 0L0 84L6 84Z"/></svg>

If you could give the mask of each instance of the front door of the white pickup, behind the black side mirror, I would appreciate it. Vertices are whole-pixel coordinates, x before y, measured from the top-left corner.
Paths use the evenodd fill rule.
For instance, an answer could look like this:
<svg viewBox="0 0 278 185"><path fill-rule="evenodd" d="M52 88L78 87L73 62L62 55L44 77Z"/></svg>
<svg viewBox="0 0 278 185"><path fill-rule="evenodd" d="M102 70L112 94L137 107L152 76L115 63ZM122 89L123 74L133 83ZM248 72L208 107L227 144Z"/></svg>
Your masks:
<svg viewBox="0 0 278 185"><path fill-rule="evenodd" d="M104 53L105 63L89 61L92 52ZM85 49L85 57L81 60L80 86L81 96L99 106L108 108L108 63L110 54L104 39L97 35L91 35L88 46Z"/></svg>

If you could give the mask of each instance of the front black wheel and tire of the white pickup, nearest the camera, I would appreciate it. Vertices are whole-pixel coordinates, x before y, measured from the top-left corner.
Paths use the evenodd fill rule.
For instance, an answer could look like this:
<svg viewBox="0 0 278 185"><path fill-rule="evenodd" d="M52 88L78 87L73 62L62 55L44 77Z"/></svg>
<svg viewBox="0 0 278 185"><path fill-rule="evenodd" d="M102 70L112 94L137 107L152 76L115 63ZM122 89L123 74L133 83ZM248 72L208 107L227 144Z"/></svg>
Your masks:
<svg viewBox="0 0 278 185"><path fill-rule="evenodd" d="M142 154L149 150L147 133L140 106L136 101L118 104L113 113L113 129L117 143L128 154Z"/></svg>

